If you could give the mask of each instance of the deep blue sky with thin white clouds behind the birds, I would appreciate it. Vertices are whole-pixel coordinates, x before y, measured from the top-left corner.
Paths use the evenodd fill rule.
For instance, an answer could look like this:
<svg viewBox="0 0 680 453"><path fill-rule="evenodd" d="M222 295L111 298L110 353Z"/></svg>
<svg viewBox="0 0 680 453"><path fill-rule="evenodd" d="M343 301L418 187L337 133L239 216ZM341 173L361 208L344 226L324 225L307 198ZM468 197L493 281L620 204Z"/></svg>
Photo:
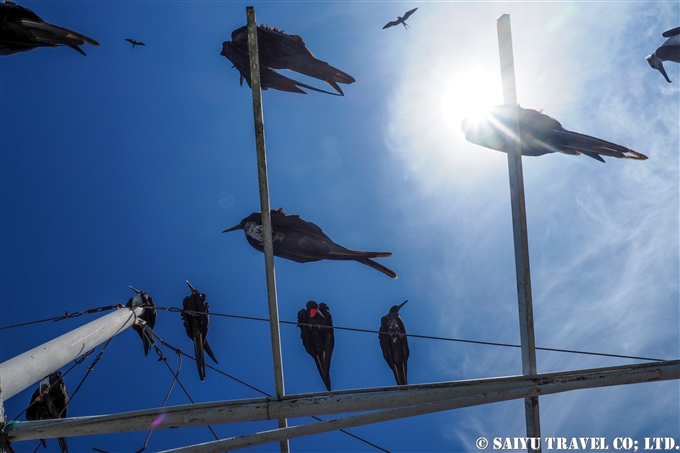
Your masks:
<svg viewBox="0 0 680 453"><path fill-rule="evenodd" d="M267 317L262 254L240 232L221 234L259 209L251 93L220 55L253 5L258 23L299 34L357 80L342 86L345 97L263 93L272 207L344 246L393 252L381 262L399 274L276 259L281 319L295 320L314 299L328 303L337 326L377 330L390 306L408 299L410 333L518 344L507 159L467 143L460 130L469 111L502 102L496 20L509 13L520 104L649 156L606 164L524 158L536 344L680 356L680 71L666 64L668 84L644 60L678 26L677 2L22 5L101 46L85 46L87 57L59 48L0 59L0 325L125 303L128 285L159 307L177 307L189 294L186 279L214 313ZM410 30L381 29L416 6ZM146 47L130 49L124 38ZM2 330L0 359L93 316ZM159 312L155 331L191 353L179 314ZM322 391L297 327L282 325L281 337L286 393ZM274 393L266 323L213 316L208 338L221 370ZM410 383L521 374L517 349L410 344ZM164 353L176 366L174 353ZM537 354L539 372L628 363L642 362ZM84 372L67 376L69 390ZM370 333L336 332L331 377L335 389L394 383ZM260 396L211 370L201 383L189 360L180 378L195 401ZM69 415L158 407L171 380L143 356L137 334L124 332ZM33 390L6 401L10 417ZM185 403L175 388L169 404ZM569 392L540 405L543 436L677 438L680 425L677 381ZM225 438L273 427L214 428ZM352 432L390 451L476 451L480 436L525 435L523 402ZM73 438L69 446L135 451L145 435ZM148 449L211 439L204 427L158 431ZM48 448L57 451L56 441ZM341 433L293 440L291 450L377 451Z"/></svg>

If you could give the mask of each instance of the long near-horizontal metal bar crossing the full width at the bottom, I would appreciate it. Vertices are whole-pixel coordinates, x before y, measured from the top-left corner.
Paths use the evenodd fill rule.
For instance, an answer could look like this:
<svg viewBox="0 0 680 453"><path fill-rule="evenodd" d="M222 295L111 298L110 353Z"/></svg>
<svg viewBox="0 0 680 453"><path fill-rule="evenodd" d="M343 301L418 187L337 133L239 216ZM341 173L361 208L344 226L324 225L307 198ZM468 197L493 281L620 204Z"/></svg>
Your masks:
<svg viewBox="0 0 680 453"><path fill-rule="evenodd" d="M309 415L341 414L346 412L404 408L404 406L409 405L431 404L440 400L450 401L456 398L472 398L471 401L483 401L475 404L484 404L486 402L521 398L529 394L543 395L582 388L679 378L680 360L673 360L620 367L546 373L534 376L511 376L403 387L287 395L281 399L256 398L220 401L146 409L115 415L17 422L9 432L9 440L18 441L138 431L150 429L152 423L158 425L155 429L164 429L206 424L296 418ZM510 395L508 392L520 392L522 396L509 397L507 396ZM485 395L490 393L496 393L500 397L489 401ZM512 395L515 394L512 393ZM482 400L482 397L485 399ZM435 410L448 410L448 406L444 409ZM401 415L400 417L402 416L409 415ZM313 425L318 425L318 423ZM342 428L342 426L334 429L339 428ZM224 447L219 447L216 451L224 451Z"/></svg>

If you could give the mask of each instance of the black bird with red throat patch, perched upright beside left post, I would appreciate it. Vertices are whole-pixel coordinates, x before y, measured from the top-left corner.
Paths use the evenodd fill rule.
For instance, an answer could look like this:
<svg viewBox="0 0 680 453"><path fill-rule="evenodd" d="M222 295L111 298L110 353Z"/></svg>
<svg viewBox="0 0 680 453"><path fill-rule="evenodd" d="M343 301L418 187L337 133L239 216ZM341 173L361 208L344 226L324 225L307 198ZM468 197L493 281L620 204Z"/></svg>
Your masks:
<svg viewBox="0 0 680 453"><path fill-rule="evenodd" d="M335 346L333 333L333 317L324 302L317 304L313 300L307 302L307 308L298 312L300 338L305 350L314 359L326 390L331 391L331 356Z"/></svg>

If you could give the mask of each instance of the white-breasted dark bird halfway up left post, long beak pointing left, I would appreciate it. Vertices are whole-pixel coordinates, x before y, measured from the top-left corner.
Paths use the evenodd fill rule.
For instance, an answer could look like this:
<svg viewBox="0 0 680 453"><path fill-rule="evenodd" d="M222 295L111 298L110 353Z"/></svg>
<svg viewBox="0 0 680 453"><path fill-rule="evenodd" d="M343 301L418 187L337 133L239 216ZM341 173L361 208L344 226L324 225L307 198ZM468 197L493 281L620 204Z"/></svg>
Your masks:
<svg viewBox="0 0 680 453"><path fill-rule="evenodd" d="M323 230L312 222L302 220L299 215L289 215L283 208L271 211L272 243L274 255L297 263L308 263L319 260L354 260L372 267L391 278L397 274L378 264L371 258L387 258L392 252L362 252L350 250L336 244L324 234ZM264 251L262 216L259 212L250 214L237 225L228 228L229 231L243 230L248 243L253 248Z"/></svg>

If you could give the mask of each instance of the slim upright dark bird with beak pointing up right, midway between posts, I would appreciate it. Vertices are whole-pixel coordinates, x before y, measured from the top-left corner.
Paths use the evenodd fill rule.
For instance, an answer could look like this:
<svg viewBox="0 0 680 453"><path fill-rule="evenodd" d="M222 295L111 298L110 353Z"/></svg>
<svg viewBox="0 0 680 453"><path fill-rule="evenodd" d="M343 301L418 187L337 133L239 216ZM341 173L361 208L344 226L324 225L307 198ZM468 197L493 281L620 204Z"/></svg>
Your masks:
<svg viewBox="0 0 680 453"><path fill-rule="evenodd" d="M397 385L408 385L407 362L410 351L404 321L399 316L399 309L406 304L405 300L399 305L393 305L390 312L380 319L380 349L383 351L385 362L390 366Z"/></svg>

